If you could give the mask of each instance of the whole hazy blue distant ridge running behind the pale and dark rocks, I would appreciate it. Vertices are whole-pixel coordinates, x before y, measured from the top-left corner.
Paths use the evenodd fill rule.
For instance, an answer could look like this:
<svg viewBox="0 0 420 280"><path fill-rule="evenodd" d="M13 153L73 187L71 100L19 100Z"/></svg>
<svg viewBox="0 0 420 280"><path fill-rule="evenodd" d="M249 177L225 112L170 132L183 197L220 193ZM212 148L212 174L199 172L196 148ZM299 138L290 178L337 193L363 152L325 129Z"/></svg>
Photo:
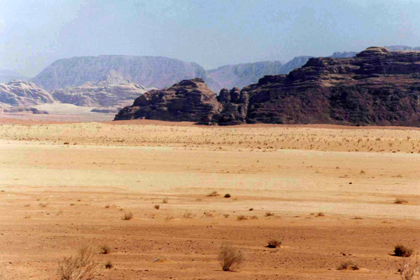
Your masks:
<svg viewBox="0 0 420 280"><path fill-rule="evenodd" d="M420 47L388 46L391 51L417 50ZM335 52L330 58L352 58L355 51ZM72 88L85 83L136 83L146 88L168 88L191 78L203 78L216 93L222 88L243 88L258 83L266 75L288 74L300 68L313 56L296 56L291 61L259 61L221 66L209 71L194 62L163 56L81 56L54 61L31 81L51 91Z"/></svg>

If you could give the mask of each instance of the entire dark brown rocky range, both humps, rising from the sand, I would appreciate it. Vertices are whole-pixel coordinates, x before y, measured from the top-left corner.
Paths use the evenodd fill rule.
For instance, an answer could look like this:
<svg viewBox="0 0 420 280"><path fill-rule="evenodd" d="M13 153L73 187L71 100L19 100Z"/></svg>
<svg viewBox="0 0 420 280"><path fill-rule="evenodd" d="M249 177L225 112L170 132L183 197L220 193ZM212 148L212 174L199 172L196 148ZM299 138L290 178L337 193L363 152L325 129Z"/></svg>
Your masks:
<svg viewBox="0 0 420 280"><path fill-rule="evenodd" d="M352 58L310 58L288 75L265 76L219 97L202 80L182 81L137 98L115 120L132 118L420 126L420 51L370 47Z"/></svg>

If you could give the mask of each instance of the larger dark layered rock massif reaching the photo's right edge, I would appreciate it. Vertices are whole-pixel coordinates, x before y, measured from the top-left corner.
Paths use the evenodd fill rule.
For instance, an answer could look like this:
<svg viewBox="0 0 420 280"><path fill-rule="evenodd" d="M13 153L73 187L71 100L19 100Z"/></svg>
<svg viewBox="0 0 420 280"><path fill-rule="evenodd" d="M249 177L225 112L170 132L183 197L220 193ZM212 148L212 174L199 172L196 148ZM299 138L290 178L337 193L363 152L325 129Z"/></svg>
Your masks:
<svg viewBox="0 0 420 280"><path fill-rule="evenodd" d="M420 52L371 47L355 58L311 58L288 76L243 88L248 123L420 125Z"/></svg>

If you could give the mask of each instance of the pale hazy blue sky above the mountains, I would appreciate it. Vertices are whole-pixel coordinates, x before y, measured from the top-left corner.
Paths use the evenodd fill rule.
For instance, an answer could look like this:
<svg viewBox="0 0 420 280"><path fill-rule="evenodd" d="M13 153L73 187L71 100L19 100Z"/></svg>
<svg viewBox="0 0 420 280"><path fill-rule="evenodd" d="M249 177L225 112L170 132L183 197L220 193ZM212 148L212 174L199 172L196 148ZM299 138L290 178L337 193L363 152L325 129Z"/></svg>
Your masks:
<svg viewBox="0 0 420 280"><path fill-rule="evenodd" d="M420 46L420 0L0 0L0 69L167 56L204 68Z"/></svg>

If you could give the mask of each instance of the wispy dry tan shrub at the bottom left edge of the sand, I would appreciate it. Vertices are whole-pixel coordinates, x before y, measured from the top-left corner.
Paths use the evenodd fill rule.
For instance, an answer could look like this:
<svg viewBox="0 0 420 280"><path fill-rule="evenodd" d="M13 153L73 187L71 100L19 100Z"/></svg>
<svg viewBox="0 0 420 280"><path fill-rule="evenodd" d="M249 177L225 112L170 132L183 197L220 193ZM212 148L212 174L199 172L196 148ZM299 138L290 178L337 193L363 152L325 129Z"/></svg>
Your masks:
<svg viewBox="0 0 420 280"><path fill-rule="evenodd" d="M61 280L94 279L98 264L93 261L92 247L83 247L75 256L64 258L58 264L58 276Z"/></svg>

